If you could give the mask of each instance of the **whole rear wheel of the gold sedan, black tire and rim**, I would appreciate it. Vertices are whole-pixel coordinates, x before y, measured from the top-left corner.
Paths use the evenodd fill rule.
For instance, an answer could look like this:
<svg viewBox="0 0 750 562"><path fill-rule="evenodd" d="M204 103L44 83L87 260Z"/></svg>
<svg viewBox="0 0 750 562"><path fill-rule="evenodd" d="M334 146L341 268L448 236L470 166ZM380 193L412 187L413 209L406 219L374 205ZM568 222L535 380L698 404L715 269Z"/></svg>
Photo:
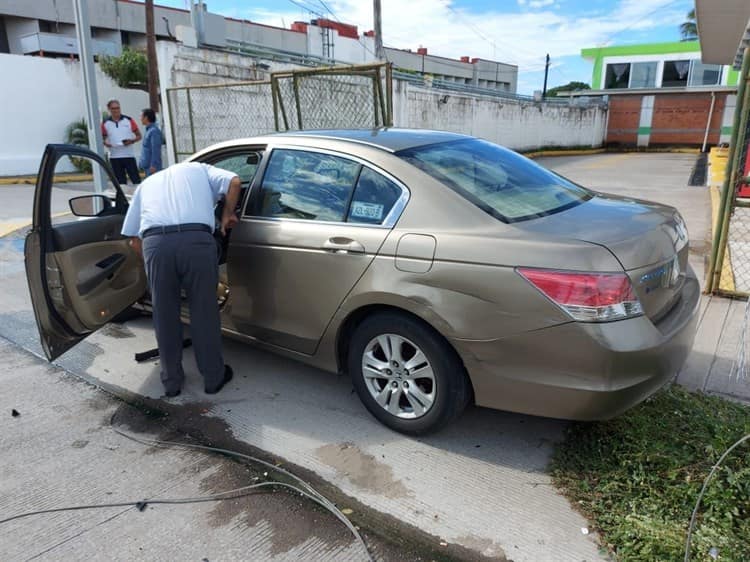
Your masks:
<svg viewBox="0 0 750 562"><path fill-rule="evenodd" d="M401 360L393 370L384 367L397 363L388 360L388 353ZM434 329L407 314L377 313L359 324L349 342L347 367L369 412L407 435L438 430L457 418L471 399L469 379L455 350Z"/></svg>

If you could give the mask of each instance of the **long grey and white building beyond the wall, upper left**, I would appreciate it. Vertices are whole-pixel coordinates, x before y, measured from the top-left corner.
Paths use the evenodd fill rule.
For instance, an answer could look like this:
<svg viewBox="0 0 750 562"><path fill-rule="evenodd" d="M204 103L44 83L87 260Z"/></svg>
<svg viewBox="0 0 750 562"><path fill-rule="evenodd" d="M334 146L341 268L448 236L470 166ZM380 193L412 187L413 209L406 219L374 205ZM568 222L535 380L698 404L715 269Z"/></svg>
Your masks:
<svg viewBox="0 0 750 562"><path fill-rule="evenodd" d="M192 0L191 10L154 7L157 40L184 39L187 28L201 29L200 42L235 50L270 50L308 57L311 63L375 62L371 31L325 18L294 22L289 29L247 20L225 18ZM118 55L124 47L145 49L146 17L143 3L133 0L89 0L93 50L96 55ZM0 0L0 53L75 57L73 2L60 0ZM385 48L396 68L430 74L457 84L515 93L518 67L496 61L462 57L449 59L416 51Z"/></svg>

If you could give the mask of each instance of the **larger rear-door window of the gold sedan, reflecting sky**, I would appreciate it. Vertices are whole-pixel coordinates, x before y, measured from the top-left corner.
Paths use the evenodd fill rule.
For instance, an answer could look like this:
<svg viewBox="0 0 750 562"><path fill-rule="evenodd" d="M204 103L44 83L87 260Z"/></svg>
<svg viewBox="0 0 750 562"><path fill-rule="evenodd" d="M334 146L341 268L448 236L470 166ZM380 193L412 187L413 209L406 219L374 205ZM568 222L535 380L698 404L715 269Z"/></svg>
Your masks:
<svg viewBox="0 0 750 562"><path fill-rule="evenodd" d="M263 176L259 214L343 222L359 169L338 156L276 149Z"/></svg>

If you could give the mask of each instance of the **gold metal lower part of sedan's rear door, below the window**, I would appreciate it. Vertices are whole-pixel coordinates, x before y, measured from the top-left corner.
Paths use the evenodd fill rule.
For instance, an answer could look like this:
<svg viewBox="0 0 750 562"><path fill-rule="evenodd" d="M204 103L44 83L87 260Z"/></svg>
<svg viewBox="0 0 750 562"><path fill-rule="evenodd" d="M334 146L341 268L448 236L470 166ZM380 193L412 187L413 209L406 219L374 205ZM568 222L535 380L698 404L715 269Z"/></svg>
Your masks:
<svg viewBox="0 0 750 562"><path fill-rule="evenodd" d="M382 227L244 218L229 247L239 331L312 354L390 232Z"/></svg>

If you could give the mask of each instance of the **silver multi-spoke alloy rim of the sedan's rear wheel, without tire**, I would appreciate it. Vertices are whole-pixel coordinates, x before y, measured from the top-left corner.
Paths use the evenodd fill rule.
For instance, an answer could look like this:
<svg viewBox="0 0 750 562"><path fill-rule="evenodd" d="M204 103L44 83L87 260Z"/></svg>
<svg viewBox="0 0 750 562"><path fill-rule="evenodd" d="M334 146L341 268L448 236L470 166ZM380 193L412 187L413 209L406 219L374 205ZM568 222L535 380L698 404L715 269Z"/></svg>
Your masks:
<svg viewBox="0 0 750 562"><path fill-rule="evenodd" d="M362 355L367 390L381 408L402 419L417 419L435 401L435 373L424 352L397 334L370 340Z"/></svg>

